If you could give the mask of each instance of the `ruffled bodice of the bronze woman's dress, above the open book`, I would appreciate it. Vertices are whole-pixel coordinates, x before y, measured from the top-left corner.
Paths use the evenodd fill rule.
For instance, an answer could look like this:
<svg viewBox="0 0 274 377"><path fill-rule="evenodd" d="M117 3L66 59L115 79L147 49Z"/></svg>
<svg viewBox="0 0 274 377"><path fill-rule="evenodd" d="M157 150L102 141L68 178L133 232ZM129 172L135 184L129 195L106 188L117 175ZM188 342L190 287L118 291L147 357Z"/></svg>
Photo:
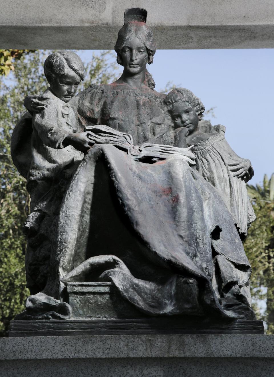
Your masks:
<svg viewBox="0 0 274 377"><path fill-rule="evenodd" d="M129 133L141 144L162 132L166 126L164 95L148 86L128 84L91 86L75 98L82 124L104 124Z"/></svg>

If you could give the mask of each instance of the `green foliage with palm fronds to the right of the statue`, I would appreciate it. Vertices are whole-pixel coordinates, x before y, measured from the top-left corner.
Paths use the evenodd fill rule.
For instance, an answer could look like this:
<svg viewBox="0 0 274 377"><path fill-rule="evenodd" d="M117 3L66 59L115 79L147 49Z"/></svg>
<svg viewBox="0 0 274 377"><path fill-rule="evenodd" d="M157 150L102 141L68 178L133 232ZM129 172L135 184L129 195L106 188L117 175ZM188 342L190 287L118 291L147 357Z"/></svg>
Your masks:
<svg viewBox="0 0 274 377"><path fill-rule="evenodd" d="M267 333L274 334L274 173L265 175L262 185L247 185L257 219L244 242L253 273L250 279L253 299L266 300L261 313L255 304L257 317L265 320Z"/></svg>

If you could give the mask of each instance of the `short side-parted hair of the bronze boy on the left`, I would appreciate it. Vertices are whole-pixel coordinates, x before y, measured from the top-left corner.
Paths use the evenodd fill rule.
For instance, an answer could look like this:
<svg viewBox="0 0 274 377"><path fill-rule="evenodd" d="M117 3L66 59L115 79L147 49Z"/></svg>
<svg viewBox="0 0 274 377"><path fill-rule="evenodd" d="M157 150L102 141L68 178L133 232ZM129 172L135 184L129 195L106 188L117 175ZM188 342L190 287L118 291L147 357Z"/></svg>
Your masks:
<svg viewBox="0 0 274 377"><path fill-rule="evenodd" d="M81 58L73 51L57 51L50 54L44 63L44 73L47 81L54 79L56 76L65 74L66 65L84 80L84 64Z"/></svg>

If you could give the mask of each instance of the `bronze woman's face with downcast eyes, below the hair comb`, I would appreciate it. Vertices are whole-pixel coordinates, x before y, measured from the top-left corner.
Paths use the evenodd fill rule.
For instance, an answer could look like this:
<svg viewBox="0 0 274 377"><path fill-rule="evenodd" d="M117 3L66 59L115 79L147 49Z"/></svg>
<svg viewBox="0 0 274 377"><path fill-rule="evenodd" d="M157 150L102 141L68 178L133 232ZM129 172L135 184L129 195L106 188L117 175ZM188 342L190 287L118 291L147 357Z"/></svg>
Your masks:
<svg viewBox="0 0 274 377"><path fill-rule="evenodd" d="M136 75L146 69L146 63L148 63L146 46L139 38L131 37L125 41L121 58L126 72Z"/></svg>

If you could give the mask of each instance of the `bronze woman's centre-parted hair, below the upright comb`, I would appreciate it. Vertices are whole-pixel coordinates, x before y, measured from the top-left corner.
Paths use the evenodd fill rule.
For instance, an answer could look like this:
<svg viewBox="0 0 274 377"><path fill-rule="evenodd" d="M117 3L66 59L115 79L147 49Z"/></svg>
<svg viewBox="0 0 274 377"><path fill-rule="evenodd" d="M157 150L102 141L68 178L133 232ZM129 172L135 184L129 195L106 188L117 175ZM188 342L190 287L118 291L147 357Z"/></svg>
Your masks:
<svg viewBox="0 0 274 377"><path fill-rule="evenodd" d="M156 52L156 44L152 34L152 30L144 22L129 21L122 26L118 32L118 38L114 46L117 53L117 63L123 65L121 58L122 49L126 40L130 37L137 37L146 46L148 52L148 64L153 63L153 56Z"/></svg>

